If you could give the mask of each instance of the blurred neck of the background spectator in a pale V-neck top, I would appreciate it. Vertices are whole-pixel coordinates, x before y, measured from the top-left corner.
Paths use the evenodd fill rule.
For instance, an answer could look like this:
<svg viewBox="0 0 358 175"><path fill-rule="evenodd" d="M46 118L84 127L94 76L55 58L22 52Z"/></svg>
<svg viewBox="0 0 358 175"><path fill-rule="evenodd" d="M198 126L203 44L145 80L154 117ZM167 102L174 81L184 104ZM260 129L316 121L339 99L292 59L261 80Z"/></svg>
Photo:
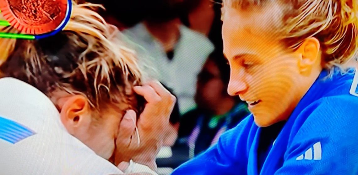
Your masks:
<svg viewBox="0 0 358 175"><path fill-rule="evenodd" d="M164 47L164 50L173 50L180 37L180 19L174 19L165 23L144 22L149 33Z"/></svg>

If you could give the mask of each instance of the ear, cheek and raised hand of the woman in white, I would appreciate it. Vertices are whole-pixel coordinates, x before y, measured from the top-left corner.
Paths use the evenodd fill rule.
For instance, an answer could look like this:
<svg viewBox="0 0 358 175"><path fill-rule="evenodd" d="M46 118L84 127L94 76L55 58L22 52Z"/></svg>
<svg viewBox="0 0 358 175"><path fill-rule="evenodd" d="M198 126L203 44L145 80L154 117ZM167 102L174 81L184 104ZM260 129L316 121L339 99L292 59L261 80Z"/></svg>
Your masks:
<svg viewBox="0 0 358 175"><path fill-rule="evenodd" d="M138 121L134 110L121 112L121 109L129 105L106 105L98 114L91 110L87 99L82 95L58 99L61 121L71 135L97 155L105 159L111 158L115 165L132 159L155 169L155 156L164 136L170 132L169 117L176 99L158 81L135 86L134 91L147 101ZM56 95L64 96L63 93Z"/></svg>

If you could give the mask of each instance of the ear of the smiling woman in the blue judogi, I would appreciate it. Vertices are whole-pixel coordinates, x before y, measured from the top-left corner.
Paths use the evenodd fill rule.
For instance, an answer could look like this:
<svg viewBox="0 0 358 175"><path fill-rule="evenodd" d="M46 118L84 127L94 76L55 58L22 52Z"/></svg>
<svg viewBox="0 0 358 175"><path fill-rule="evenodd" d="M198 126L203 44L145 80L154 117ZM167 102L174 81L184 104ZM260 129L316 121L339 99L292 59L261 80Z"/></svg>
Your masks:
<svg viewBox="0 0 358 175"><path fill-rule="evenodd" d="M321 64L320 43L318 39L310 37L303 41L297 51L300 53L299 67L301 72L310 71Z"/></svg>

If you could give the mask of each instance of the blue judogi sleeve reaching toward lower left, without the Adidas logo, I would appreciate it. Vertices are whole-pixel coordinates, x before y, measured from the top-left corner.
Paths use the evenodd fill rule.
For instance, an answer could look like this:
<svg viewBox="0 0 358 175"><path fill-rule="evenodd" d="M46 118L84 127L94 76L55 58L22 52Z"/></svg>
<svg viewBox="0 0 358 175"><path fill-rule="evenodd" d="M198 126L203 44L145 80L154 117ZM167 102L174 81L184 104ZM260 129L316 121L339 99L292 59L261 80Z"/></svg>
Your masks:
<svg viewBox="0 0 358 175"><path fill-rule="evenodd" d="M247 172L246 145L253 119L248 116L231 130L224 132L218 143L194 159L180 165L171 175L217 175Z"/></svg>

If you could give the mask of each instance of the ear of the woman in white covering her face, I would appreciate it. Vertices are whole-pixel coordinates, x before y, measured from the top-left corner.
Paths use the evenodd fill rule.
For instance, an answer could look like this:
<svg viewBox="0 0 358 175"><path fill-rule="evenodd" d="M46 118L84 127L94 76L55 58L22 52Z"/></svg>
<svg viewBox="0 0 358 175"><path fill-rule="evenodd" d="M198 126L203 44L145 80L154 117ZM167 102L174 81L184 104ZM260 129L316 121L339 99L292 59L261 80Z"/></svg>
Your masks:
<svg viewBox="0 0 358 175"><path fill-rule="evenodd" d="M86 97L73 95L58 100L61 121L71 135L91 124L91 111ZM79 134L79 133L78 133Z"/></svg>

